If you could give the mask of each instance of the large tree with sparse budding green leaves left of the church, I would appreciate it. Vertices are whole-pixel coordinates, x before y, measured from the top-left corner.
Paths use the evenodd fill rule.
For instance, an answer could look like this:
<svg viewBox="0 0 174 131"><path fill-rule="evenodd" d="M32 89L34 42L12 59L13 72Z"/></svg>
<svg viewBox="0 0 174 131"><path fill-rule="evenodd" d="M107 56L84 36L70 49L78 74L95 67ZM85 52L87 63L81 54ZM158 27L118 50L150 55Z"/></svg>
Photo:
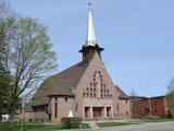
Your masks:
<svg viewBox="0 0 174 131"><path fill-rule="evenodd" d="M15 39L10 45L10 61L14 73L11 117L15 112L16 99L27 90L38 87L38 83L55 69L55 52L47 35L47 28L37 20L21 17L16 22ZM21 90L18 90L18 87Z"/></svg>

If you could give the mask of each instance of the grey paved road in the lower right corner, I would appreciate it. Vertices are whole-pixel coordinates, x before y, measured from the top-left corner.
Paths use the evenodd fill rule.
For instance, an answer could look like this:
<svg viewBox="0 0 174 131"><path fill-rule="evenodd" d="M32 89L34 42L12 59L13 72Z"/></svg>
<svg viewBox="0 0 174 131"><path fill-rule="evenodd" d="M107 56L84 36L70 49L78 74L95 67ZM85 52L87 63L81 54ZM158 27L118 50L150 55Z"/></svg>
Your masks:
<svg viewBox="0 0 174 131"><path fill-rule="evenodd" d="M114 128L102 129L102 131L174 131L174 122L156 122L156 123L114 127Z"/></svg>

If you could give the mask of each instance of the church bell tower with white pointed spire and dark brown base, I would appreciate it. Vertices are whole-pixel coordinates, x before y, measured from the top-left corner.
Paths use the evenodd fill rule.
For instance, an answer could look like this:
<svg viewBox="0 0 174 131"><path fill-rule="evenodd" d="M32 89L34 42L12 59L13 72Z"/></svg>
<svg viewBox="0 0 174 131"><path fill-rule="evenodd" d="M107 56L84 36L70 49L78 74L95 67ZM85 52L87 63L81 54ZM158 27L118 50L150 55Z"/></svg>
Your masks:
<svg viewBox="0 0 174 131"><path fill-rule="evenodd" d="M99 53L101 58L101 51L104 50L97 44L95 28L94 28L94 21L92 21L91 3L88 3L88 5L89 10L88 10L87 38L86 38L86 44L83 45L83 48L79 50L79 52L83 53L83 62L89 62L95 56L95 53Z"/></svg>

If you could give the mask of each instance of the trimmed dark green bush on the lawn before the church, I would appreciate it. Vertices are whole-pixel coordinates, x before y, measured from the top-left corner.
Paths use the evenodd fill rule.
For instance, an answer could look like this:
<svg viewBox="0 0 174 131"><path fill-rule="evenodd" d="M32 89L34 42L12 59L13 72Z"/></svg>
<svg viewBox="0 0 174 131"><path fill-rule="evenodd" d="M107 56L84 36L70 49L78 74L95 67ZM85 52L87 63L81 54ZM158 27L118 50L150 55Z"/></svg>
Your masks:
<svg viewBox="0 0 174 131"><path fill-rule="evenodd" d="M82 122L82 118L78 117L63 117L61 119L61 123L65 129L79 128Z"/></svg>

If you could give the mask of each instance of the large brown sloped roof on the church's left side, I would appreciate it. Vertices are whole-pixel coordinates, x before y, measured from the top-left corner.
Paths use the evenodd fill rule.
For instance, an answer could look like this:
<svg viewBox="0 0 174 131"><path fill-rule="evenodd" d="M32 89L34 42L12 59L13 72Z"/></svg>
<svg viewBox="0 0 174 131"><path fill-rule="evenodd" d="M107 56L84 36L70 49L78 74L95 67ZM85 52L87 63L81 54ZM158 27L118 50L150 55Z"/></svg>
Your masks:
<svg viewBox="0 0 174 131"><path fill-rule="evenodd" d="M49 95L74 96L72 88L76 88L87 67L87 62L79 62L55 75L48 78L35 94L33 106L48 104Z"/></svg>

